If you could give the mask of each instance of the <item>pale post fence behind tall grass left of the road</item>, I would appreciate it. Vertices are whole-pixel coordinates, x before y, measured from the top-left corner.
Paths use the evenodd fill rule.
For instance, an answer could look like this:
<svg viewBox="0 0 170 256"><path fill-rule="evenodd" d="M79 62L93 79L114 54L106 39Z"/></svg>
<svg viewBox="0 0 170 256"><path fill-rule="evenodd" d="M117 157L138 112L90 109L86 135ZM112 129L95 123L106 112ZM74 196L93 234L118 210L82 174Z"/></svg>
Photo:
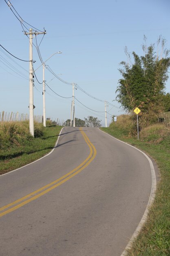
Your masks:
<svg viewBox="0 0 170 256"><path fill-rule="evenodd" d="M9 121L25 121L29 120L28 114L20 114L19 112L0 112L0 122L9 122ZM38 123L42 123L42 116L34 116L34 120Z"/></svg>

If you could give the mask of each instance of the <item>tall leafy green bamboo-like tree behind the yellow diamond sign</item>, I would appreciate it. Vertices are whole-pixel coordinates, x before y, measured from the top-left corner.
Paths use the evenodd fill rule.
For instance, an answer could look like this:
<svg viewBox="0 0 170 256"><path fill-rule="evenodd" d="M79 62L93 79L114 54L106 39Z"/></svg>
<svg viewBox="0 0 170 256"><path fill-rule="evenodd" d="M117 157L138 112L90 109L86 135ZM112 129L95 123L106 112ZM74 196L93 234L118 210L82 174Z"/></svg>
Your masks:
<svg viewBox="0 0 170 256"><path fill-rule="evenodd" d="M166 40L161 36L157 40L157 53L155 45L146 46L145 36L144 42L142 45L144 56L139 57L132 52L133 64L126 49L128 63L125 61L120 63L123 65L123 69L119 69L119 72L123 78L119 79L116 100L128 112L138 107L142 113L154 112L157 114L164 110L162 95L170 67L169 50L165 48Z"/></svg>

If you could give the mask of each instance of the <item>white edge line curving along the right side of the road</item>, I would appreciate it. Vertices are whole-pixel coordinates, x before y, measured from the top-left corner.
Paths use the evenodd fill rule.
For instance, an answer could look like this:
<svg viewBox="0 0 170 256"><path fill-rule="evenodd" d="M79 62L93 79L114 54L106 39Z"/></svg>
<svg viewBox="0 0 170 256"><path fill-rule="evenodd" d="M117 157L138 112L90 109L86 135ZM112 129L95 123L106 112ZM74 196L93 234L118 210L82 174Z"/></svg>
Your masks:
<svg viewBox="0 0 170 256"><path fill-rule="evenodd" d="M100 130L100 131L104 132L102 130ZM113 137L112 135L108 134L107 132L104 132L104 133L106 133L106 135L112 137L113 139L116 139L116 140L118 140L118 141L120 141L120 142L122 142L124 144L127 144L128 146L130 146L132 148L135 148L136 150L141 152L148 159L149 164L150 164L150 171L151 171L151 176L152 176L152 186L151 186L151 191L150 191L150 197L149 197L148 204L146 206L146 210L144 212L144 215L141 218L141 221L139 222L139 224L138 224L137 228L135 229L134 233L132 234L128 244L126 245L124 251L121 254L121 256L127 256L127 254L128 254L127 250L132 247L132 243L137 238L137 236L139 236L139 234L141 232L141 229L144 226L144 224L145 224L145 222L146 222L146 220L148 218L148 213L149 213L150 206L152 205L152 203L154 201L154 198L155 198L155 193L156 193L156 188L157 188L157 180L156 180L155 168L153 166L153 163L152 163L152 160L150 159L150 157L148 157L148 155L146 155L146 153L141 151L139 148L136 148L136 147L134 147L134 146L124 142L124 141L121 141L120 139L117 139L117 138Z"/></svg>

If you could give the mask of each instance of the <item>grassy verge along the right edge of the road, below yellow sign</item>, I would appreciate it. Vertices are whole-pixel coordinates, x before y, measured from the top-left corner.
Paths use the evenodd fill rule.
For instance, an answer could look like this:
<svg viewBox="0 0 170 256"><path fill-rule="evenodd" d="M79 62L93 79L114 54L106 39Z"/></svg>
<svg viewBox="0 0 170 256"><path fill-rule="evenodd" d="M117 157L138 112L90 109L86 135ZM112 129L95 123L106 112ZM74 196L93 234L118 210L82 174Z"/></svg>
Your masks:
<svg viewBox="0 0 170 256"><path fill-rule="evenodd" d="M153 157L161 174L148 219L127 255L168 256L170 255L170 129L160 125L148 127L141 132L141 137L137 140L134 137L128 138L128 133L118 127L117 124L112 124L109 128L101 128L101 130Z"/></svg>

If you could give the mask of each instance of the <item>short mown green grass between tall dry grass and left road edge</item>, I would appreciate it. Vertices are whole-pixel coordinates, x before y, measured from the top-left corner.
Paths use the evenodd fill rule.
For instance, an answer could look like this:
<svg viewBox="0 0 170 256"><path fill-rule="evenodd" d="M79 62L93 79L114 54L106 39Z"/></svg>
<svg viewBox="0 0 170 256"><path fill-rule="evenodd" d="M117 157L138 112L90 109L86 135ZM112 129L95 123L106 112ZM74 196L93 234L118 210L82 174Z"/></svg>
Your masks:
<svg viewBox="0 0 170 256"><path fill-rule="evenodd" d="M49 153L57 141L61 128L62 126L38 128L35 125L39 137L26 136L21 140L19 136L18 142L10 146L9 142L6 142L6 147L0 150L0 174L15 170Z"/></svg>

